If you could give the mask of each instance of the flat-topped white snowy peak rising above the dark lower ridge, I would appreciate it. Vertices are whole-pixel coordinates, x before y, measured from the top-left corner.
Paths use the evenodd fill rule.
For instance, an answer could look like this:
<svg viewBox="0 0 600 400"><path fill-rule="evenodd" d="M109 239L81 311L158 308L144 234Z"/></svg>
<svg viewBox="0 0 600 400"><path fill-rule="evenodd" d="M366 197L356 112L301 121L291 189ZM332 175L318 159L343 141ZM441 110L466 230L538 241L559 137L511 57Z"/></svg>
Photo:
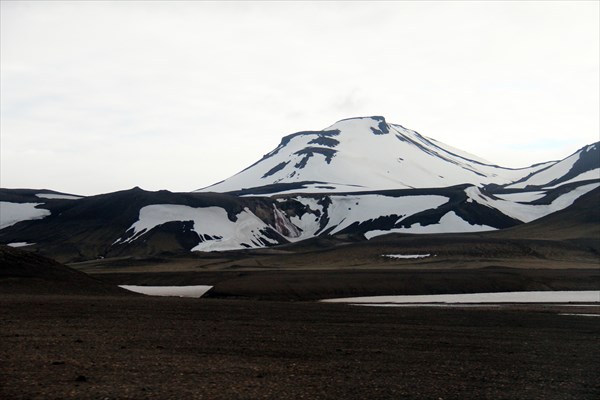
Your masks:
<svg viewBox="0 0 600 400"><path fill-rule="evenodd" d="M249 194L272 194L507 184L551 164L498 167L376 116L286 136L260 161L199 191L262 188Z"/></svg>

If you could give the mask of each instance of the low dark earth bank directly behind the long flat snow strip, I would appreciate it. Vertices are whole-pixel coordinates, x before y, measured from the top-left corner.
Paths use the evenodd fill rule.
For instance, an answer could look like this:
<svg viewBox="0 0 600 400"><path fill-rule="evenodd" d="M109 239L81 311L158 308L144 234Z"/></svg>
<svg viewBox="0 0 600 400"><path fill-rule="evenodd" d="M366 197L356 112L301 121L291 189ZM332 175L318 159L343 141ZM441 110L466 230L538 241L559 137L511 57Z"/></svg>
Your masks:
<svg viewBox="0 0 600 400"><path fill-rule="evenodd" d="M598 290L595 269L321 269L107 272L91 274L115 285L210 285L205 295L261 300L321 300L336 297Z"/></svg>

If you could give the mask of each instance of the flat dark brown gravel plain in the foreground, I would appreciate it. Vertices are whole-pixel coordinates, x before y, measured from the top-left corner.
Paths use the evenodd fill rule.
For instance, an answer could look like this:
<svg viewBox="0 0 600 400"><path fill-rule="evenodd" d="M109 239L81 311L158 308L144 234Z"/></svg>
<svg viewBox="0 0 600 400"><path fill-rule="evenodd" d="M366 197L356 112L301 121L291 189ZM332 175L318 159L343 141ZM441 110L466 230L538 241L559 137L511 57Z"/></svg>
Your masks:
<svg viewBox="0 0 600 400"><path fill-rule="evenodd" d="M0 295L0 397L597 399L600 318L559 311Z"/></svg>

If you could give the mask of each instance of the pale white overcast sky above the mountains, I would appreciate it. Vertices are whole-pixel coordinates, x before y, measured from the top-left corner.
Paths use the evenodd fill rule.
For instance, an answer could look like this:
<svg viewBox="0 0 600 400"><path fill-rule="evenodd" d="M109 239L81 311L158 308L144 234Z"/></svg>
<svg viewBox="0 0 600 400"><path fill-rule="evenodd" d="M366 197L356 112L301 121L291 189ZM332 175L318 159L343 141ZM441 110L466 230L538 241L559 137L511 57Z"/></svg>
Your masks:
<svg viewBox="0 0 600 400"><path fill-rule="evenodd" d="M600 140L597 1L0 2L0 186L191 191L383 115L494 164Z"/></svg>

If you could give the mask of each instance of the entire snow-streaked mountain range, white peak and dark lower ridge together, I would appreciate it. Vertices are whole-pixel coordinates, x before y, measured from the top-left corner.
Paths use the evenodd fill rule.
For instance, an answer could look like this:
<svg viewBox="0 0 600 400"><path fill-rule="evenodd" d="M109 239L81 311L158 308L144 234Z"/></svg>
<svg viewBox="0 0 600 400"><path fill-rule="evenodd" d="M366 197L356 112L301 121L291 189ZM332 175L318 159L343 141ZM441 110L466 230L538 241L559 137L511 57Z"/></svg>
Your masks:
<svg viewBox="0 0 600 400"><path fill-rule="evenodd" d="M257 163L197 192L1 189L0 243L82 261L329 235L479 232L569 208L599 186L600 143L509 169L383 117L353 118L286 136Z"/></svg>

